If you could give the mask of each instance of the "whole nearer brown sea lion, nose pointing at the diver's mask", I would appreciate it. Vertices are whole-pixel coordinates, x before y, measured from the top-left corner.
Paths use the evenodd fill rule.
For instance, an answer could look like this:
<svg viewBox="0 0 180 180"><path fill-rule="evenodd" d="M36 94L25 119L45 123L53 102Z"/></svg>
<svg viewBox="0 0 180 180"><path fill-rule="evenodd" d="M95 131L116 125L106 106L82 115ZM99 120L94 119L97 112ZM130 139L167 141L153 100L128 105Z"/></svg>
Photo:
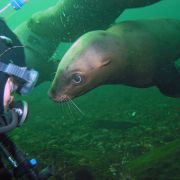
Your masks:
<svg viewBox="0 0 180 180"><path fill-rule="evenodd" d="M102 84L157 86L180 97L180 20L125 21L81 36L59 63L49 96L57 102Z"/></svg>

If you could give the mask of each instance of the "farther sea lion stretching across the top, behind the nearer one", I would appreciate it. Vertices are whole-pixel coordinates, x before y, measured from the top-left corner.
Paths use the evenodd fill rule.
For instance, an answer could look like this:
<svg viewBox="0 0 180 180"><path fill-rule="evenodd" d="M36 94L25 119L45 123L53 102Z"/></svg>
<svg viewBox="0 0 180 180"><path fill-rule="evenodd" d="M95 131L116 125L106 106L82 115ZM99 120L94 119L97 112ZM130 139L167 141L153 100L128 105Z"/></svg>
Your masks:
<svg viewBox="0 0 180 180"><path fill-rule="evenodd" d="M60 0L55 6L34 14L28 27L35 34L51 41L73 42L88 31L108 28L125 9L144 7L160 1Z"/></svg>

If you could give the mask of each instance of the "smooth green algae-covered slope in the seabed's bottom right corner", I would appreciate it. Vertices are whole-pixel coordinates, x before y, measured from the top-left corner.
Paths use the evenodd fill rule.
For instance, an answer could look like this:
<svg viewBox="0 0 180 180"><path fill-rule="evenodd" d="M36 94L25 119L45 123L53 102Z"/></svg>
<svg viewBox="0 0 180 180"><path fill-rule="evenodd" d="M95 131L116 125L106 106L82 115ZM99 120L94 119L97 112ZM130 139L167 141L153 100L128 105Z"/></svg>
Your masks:
<svg viewBox="0 0 180 180"><path fill-rule="evenodd" d="M180 140L175 140L127 164L137 179L180 179Z"/></svg>

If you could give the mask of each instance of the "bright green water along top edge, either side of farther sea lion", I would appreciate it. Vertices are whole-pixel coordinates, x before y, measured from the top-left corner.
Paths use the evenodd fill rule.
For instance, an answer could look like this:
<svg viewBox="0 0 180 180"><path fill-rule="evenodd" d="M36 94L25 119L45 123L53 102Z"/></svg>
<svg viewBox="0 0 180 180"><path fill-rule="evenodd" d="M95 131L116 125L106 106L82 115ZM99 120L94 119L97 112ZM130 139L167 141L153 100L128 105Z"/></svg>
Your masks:
<svg viewBox="0 0 180 180"><path fill-rule="evenodd" d="M47 9L55 5L58 0L29 0L20 11L14 11L12 8L8 8L2 15L7 19L10 27L15 28L21 22L27 20L33 13ZM1 0L0 7L4 7L8 3L8 0ZM180 18L179 13L180 1L178 0L162 0L162 2L154 4L152 6L126 10L118 18L119 20L127 19L141 19L141 18Z"/></svg>

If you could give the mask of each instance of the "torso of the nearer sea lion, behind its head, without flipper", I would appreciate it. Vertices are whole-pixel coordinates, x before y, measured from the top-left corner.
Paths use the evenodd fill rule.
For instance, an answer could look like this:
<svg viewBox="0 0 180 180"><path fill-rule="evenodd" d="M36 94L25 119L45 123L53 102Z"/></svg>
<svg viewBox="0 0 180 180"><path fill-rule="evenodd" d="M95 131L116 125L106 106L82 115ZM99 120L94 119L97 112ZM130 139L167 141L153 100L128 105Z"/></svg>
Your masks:
<svg viewBox="0 0 180 180"><path fill-rule="evenodd" d="M156 85L163 69L168 72L180 57L180 21L129 21L112 26L107 32L119 36L121 58L117 57L117 66L126 61L123 79L120 74L114 75L117 83L135 87Z"/></svg>

